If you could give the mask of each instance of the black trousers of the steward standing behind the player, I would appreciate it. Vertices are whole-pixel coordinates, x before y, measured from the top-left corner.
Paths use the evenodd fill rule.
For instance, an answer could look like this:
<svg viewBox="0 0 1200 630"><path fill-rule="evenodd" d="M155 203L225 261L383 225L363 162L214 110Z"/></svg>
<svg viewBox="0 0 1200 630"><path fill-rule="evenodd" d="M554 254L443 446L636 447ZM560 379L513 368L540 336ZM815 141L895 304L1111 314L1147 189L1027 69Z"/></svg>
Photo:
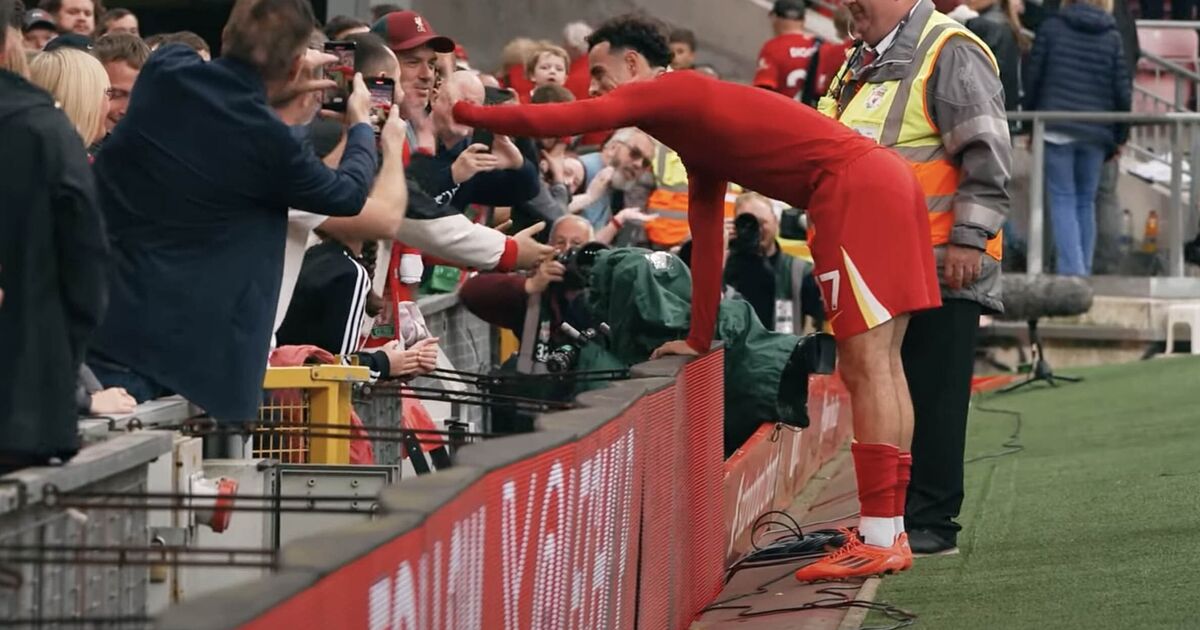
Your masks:
<svg viewBox="0 0 1200 630"><path fill-rule="evenodd" d="M962 529L954 520L962 508L962 451L982 312L970 300L946 300L941 308L919 312L901 349L916 416L905 527L931 529L950 541Z"/></svg>

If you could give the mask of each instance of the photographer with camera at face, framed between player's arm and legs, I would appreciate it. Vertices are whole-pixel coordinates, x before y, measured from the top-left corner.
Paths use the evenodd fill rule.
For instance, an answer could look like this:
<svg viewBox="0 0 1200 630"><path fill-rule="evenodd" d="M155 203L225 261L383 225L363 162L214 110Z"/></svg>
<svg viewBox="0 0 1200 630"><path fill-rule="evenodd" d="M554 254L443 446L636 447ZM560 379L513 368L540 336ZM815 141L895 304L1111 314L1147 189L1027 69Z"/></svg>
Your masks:
<svg viewBox="0 0 1200 630"><path fill-rule="evenodd" d="M779 217L770 199L756 192L740 194L726 230L725 284L754 306L768 330L799 331L802 287L812 265L779 248Z"/></svg>

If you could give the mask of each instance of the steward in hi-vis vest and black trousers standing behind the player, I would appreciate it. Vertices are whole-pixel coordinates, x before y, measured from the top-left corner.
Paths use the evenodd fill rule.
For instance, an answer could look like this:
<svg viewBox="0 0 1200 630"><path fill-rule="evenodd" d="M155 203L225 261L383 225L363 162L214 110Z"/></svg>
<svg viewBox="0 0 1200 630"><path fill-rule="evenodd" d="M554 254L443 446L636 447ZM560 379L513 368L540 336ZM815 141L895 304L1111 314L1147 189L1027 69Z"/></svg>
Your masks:
<svg viewBox="0 0 1200 630"><path fill-rule="evenodd" d="M899 511L913 553L944 553L961 529L954 520L979 316L1003 308L1012 144L991 50L930 0L911 6L894 25L862 19L858 30L870 37L817 109L900 154L925 194L942 306L912 317L901 349L914 424L911 452L901 436L899 476L911 462L912 479Z"/></svg>

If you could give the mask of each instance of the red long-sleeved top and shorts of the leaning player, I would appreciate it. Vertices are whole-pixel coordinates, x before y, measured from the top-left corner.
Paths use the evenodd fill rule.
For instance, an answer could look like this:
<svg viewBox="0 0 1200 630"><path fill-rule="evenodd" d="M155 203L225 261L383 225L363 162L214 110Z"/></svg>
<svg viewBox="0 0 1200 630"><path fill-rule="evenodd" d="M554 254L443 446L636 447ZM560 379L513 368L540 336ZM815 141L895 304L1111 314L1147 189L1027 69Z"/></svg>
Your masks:
<svg viewBox="0 0 1200 630"><path fill-rule="evenodd" d="M535 138L638 127L674 149L688 169L688 344L698 352L708 350L716 324L730 181L809 210L822 239L820 252L814 250L816 272L829 284L826 306L836 335L853 336L899 313L941 305L929 212L907 162L778 94L698 72L668 72L574 103L479 107L461 101L454 116ZM868 156L872 152L880 155ZM852 314L839 317L845 312Z"/></svg>

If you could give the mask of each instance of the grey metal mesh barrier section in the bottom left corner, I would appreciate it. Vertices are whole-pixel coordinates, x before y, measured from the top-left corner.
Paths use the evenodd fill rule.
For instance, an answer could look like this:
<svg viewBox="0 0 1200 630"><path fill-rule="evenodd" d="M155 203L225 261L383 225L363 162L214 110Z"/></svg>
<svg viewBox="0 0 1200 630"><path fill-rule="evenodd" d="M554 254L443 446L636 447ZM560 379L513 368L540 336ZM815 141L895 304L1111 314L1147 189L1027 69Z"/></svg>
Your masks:
<svg viewBox="0 0 1200 630"><path fill-rule="evenodd" d="M148 514L103 504L65 508L48 492L145 492L151 461L172 436L125 433L85 446L56 467L0 478L0 626L142 628L149 568L132 563L55 562L47 547L144 547ZM31 551L25 551L31 550Z"/></svg>

